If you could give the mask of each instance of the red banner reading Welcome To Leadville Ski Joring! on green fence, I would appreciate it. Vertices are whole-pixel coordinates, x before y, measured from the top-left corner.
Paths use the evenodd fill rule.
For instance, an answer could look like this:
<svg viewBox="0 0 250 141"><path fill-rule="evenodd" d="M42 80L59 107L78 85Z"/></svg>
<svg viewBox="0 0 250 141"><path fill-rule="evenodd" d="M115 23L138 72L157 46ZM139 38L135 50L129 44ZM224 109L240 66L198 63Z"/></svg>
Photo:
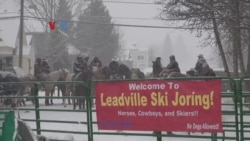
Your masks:
<svg viewBox="0 0 250 141"><path fill-rule="evenodd" d="M221 80L97 82L99 129L222 132Z"/></svg>

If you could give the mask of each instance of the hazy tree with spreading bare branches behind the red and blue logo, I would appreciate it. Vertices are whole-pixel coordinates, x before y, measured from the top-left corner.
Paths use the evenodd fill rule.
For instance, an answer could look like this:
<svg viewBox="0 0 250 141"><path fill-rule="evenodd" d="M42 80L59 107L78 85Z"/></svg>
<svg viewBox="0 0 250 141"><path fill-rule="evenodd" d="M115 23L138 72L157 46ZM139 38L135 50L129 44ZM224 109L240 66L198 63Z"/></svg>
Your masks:
<svg viewBox="0 0 250 141"><path fill-rule="evenodd" d="M45 34L44 46L45 54L39 55L48 58L54 69L60 67L70 68L67 44L74 36L73 19L84 10L86 1L84 0L29 0L26 2L26 17L38 20ZM48 29L49 22L56 22L54 30ZM60 24L67 24L67 29L60 29Z"/></svg>

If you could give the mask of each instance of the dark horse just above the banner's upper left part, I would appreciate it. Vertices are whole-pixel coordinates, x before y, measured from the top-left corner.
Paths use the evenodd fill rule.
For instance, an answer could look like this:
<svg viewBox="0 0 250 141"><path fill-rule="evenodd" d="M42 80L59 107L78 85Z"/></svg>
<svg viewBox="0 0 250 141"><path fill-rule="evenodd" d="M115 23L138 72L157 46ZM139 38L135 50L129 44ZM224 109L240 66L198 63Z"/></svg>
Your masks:
<svg viewBox="0 0 250 141"><path fill-rule="evenodd" d="M111 70L111 79L131 79L132 72L127 65L111 61L109 68Z"/></svg>

